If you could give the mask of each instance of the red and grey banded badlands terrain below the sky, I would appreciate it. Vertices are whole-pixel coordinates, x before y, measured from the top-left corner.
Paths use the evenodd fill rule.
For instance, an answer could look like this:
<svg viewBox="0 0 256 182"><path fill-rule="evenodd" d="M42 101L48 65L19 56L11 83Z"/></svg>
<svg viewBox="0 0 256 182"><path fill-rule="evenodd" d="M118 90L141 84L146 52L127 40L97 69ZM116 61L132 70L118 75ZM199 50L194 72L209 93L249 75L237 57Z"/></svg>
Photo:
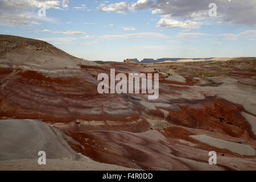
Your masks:
<svg viewBox="0 0 256 182"><path fill-rule="evenodd" d="M110 69L159 73L158 100L99 94ZM254 57L97 64L0 35L0 83L0 170L256 170Z"/></svg>

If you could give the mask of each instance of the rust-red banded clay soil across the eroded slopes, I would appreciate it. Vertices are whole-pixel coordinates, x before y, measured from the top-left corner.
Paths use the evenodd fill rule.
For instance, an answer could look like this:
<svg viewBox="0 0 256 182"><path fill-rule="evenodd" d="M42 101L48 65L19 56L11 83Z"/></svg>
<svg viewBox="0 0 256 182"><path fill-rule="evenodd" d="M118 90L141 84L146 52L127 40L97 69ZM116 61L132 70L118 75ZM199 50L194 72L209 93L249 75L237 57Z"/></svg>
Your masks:
<svg viewBox="0 0 256 182"><path fill-rule="evenodd" d="M0 90L0 119L39 119L51 123L78 142L69 141L75 151L99 162L125 167L149 170L202 169L200 166L208 165L207 152L210 150L216 151L218 155L230 156L230 160L244 165L241 169L249 168L246 165L253 166L253 162L249 164L242 159L253 158L255 161L255 155L241 156L189 137L207 134L222 139L232 138L256 149L256 137L249 122L241 115L241 112L249 113L243 106L220 97L186 100L179 97L181 92L191 89L189 85L197 85L198 81L185 76L185 84L171 82L166 81L166 76L160 74L161 97L155 102L170 104L177 109L158 106L155 110L150 110L141 104L141 101L149 102L142 94L97 92L99 81L95 74L109 74L110 68L115 68L116 74L125 70L126 74L147 73L142 65L108 64L80 67L81 69L68 73L53 75L22 70L15 73L14 69L1 68L0 80L4 86L1 86ZM179 66L166 67L177 69ZM237 74L241 77L243 75L246 74ZM251 73L247 75L253 76ZM168 96L176 96L177 99L166 98ZM167 114L161 109L166 110ZM151 125L152 120L164 120L169 125L157 129ZM157 138L159 136L166 140ZM181 143L180 139L195 146ZM228 164L221 165L219 167L222 169L233 169ZM253 168L256 169L256 164Z"/></svg>

